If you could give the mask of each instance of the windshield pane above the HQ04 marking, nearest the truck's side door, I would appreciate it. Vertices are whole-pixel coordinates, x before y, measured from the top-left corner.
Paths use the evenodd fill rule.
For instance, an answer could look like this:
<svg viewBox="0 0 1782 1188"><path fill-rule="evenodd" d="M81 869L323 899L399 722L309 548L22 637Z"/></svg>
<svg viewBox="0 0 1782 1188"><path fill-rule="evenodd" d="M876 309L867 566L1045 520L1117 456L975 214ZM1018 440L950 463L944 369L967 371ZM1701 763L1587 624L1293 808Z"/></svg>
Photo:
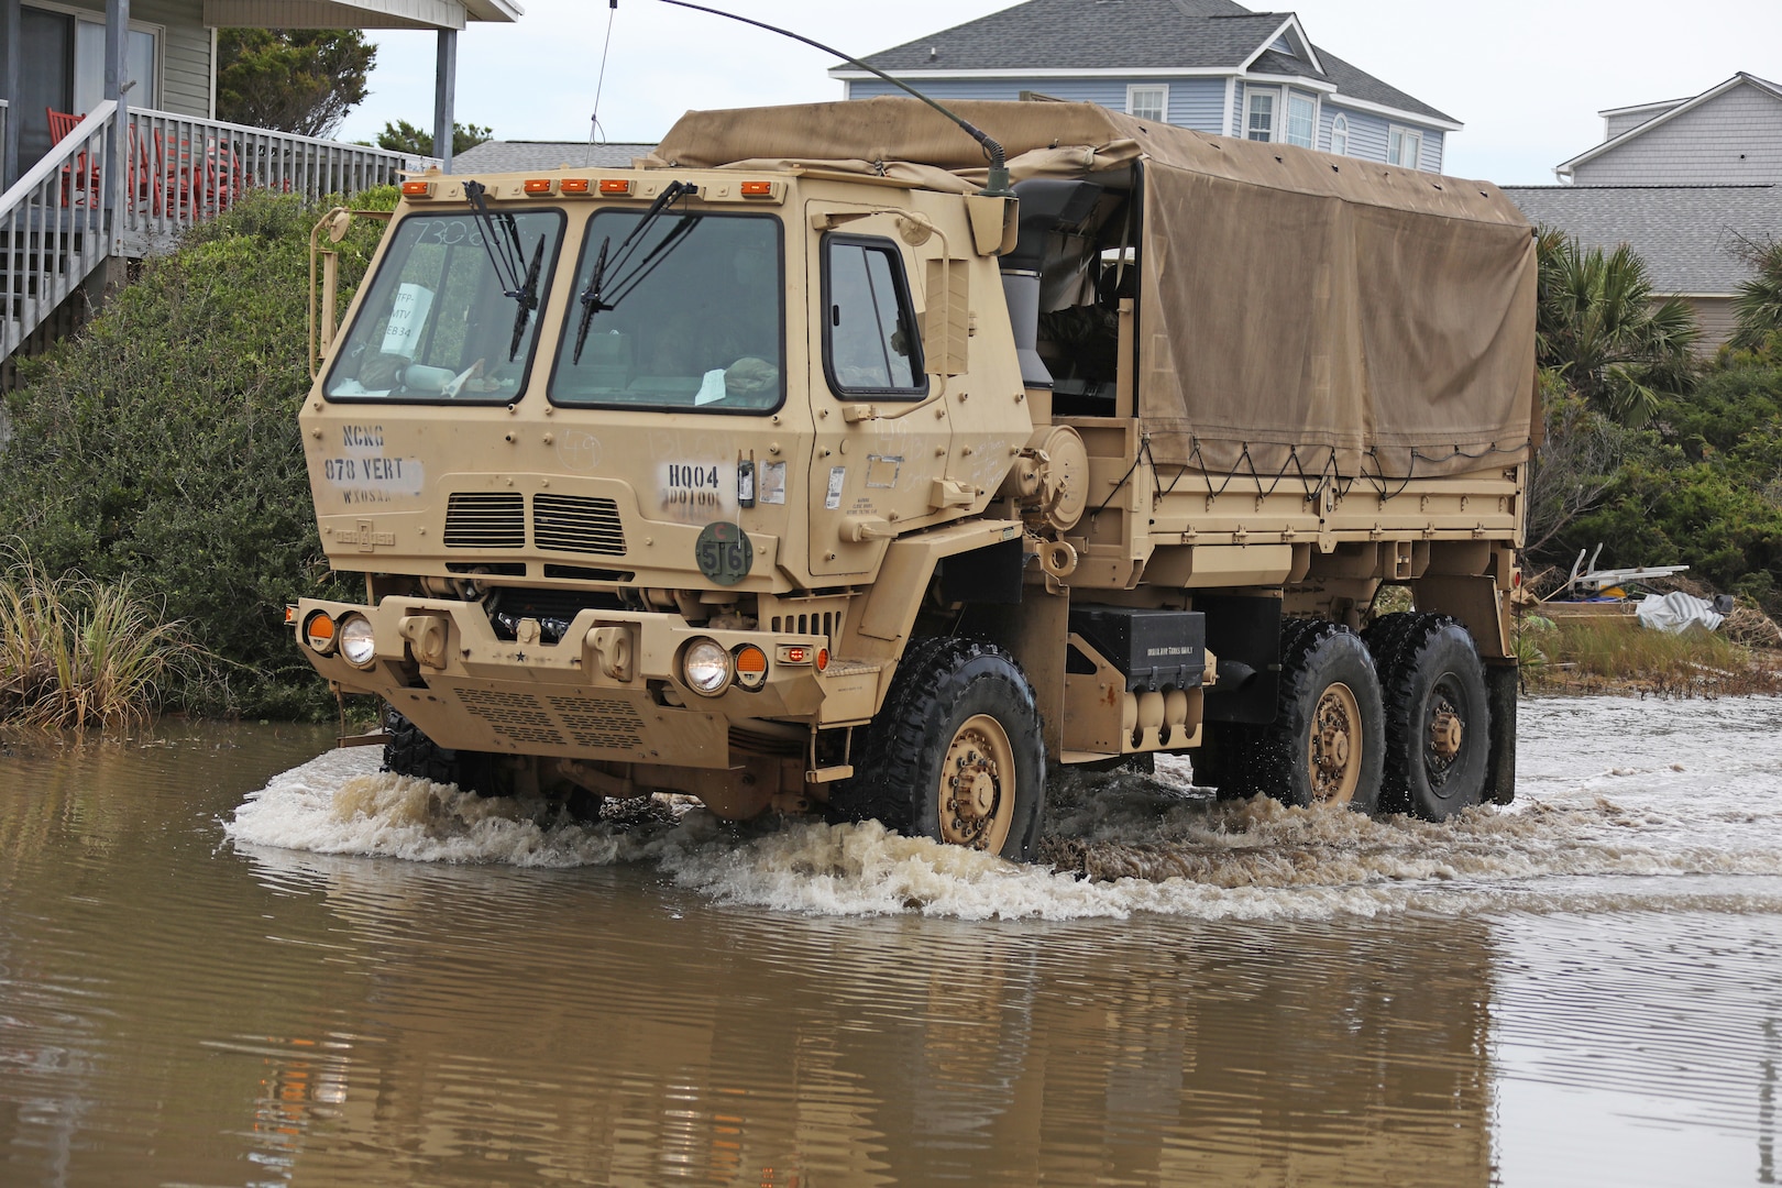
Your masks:
<svg viewBox="0 0 1782 1188"><path fill-rule="evenodd" d="M768 413L786 395L784 251L772 216L601 210L551 376L558 404ZM602 251L604 246L604 251ZM595 267L604 267L597 287ZM586 321L586 333L581 330ZM577 356L577 338L581 349Z"/></svg>

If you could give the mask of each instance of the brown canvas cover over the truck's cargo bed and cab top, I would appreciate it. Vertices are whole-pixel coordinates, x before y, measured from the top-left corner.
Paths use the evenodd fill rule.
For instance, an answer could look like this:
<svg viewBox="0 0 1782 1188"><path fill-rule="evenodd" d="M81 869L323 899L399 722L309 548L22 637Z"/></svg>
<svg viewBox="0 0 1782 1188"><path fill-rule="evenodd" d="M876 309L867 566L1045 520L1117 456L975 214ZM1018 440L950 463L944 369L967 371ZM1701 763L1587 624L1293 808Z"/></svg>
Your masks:
<svg viewBox="0 0 1782 1188"><path fill-rule="evenodd" d="M1142 176L1139 415L1160 465L1402 479L1529 456L1534 239L1495 185L1092 103L948 107L1016 180ZM959 192L985 175L978 144L912 98L688 112L645 164Z"/></svg>

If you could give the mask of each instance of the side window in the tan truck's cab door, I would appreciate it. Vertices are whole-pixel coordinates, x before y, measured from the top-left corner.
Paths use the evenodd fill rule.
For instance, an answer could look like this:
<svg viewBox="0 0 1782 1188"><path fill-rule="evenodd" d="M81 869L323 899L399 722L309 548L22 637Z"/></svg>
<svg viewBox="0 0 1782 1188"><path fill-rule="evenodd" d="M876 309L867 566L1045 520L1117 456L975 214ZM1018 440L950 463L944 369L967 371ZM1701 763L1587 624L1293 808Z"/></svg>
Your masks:
<svg viewBox="0 0 1782 1188"><path fill-rule="evenodd" d="M921 397L921 335L903 276L903 253L887 239L823 240L823 369L838 394Z"/></svg>

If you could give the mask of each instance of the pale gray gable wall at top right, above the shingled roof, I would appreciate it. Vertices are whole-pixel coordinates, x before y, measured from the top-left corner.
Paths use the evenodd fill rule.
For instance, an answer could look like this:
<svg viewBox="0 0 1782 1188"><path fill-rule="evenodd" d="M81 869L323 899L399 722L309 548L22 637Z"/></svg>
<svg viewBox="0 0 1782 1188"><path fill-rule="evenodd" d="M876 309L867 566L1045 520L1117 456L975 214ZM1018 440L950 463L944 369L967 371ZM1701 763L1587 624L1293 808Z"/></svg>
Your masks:
<svg viewBox="0 0 1782 1188"><path fill-rule="evenodd" d="M1574 166L1574 185L1782 182L1782 100L1752 85Z"/></svg>

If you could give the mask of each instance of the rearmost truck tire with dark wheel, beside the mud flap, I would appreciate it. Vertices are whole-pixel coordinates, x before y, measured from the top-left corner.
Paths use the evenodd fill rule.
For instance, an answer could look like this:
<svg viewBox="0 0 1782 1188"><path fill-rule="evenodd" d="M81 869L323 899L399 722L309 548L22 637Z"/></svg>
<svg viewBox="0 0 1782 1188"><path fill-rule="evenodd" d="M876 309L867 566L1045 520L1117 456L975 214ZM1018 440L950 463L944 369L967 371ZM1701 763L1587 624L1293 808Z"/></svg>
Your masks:
<svg viewBox="0 0 1782 1188"><path fill-rule="evenodd" d="M1386 705L1383 803L1429 821L1484 801L1492 709L1484 664L1447 614L1386 614L1367 629Z"/></svg>

